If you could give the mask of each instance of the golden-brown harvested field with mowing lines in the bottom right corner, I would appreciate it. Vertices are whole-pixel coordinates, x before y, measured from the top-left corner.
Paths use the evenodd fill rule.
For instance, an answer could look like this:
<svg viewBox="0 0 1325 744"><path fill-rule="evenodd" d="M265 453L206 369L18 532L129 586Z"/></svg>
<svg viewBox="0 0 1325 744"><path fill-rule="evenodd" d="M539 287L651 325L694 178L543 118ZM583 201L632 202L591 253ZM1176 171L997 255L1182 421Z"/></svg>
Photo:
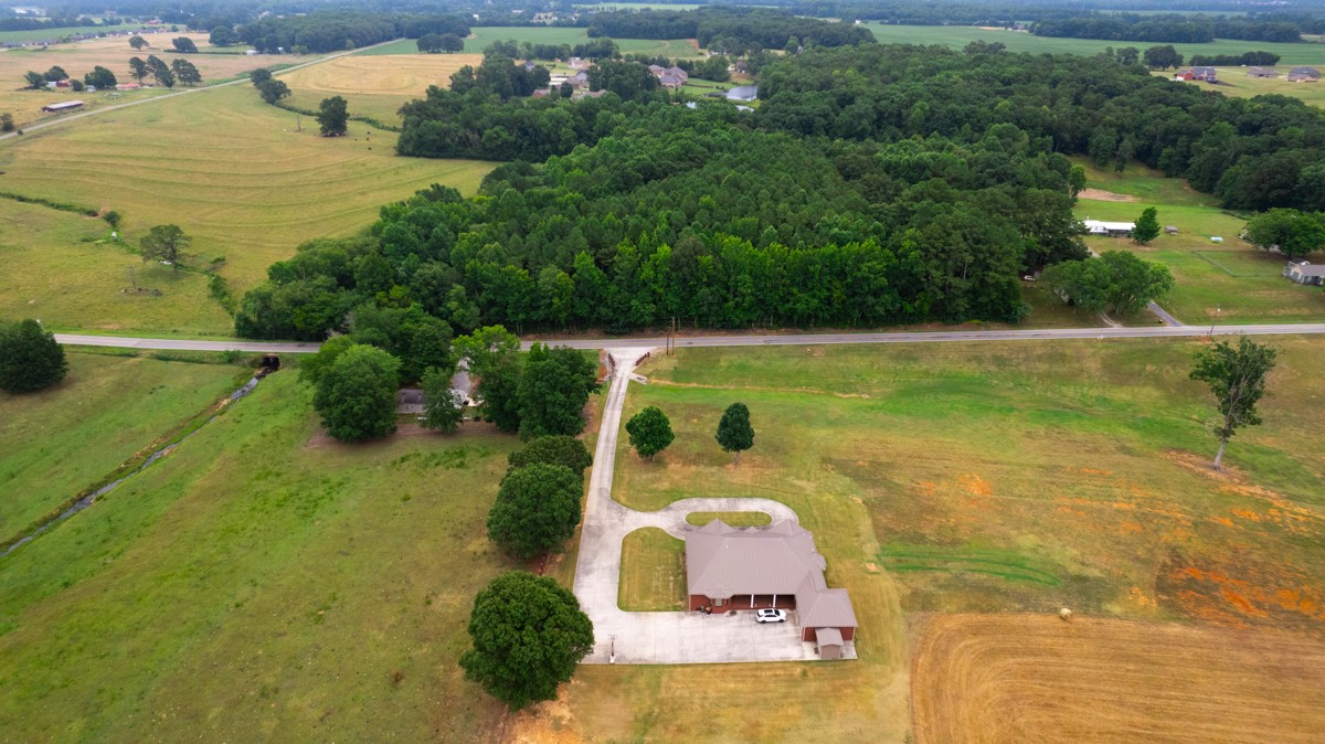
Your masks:
<svg viewBox="0 0 1325 744"><path fill-rule="evenodd" d="M1325 643L1053 614L931 616L912 666L918 743L1320 741Z"/></svg>

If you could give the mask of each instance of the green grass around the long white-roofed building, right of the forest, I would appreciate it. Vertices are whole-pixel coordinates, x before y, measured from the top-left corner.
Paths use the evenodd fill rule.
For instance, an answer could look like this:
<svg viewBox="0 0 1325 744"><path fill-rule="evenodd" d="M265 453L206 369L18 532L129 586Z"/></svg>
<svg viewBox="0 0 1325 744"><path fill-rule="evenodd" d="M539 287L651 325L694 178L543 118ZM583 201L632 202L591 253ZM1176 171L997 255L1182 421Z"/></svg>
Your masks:
<svg viewBox="0 0 1325 744"><path fill-rule="evenodd" d="M1077 163L1089 165L1084 159ZM1169 266L1177 286L1159 304L1179 320L1189 324L1325 320L1325 293L1283 278L1283 258L1242 241L1238 234L1244 221L1220 210L1215 197L1138 164L1124 173L1089 167L1086 184L1137 201L1081 199L1076 214L1083 220L1134 221L1142 209L1154 207L1161 225L1178 228L1178 234L1161 234L1146 246L1128 238L1086 238L1086 244L1096 252L1130 250ZM1211 237L1222 237L1224 242L1211 242Z"/></svg>

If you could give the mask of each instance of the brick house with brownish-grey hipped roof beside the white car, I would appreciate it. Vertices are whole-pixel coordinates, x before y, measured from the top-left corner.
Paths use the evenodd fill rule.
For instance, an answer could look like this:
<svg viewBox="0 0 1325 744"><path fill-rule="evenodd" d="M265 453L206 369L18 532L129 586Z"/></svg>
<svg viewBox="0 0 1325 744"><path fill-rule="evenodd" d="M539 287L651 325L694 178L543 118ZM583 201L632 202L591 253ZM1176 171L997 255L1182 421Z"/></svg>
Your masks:
<svg viewBox="0 0 1325 744"><path fill-rule="evenodd" d="M815 539L791 520L737 528L721 519L685 536L685 579L690 609L795 609L800 639L816 641L820 655L835 658L853 641L856 612L845 589L824 581L824 557Z"/></svg>

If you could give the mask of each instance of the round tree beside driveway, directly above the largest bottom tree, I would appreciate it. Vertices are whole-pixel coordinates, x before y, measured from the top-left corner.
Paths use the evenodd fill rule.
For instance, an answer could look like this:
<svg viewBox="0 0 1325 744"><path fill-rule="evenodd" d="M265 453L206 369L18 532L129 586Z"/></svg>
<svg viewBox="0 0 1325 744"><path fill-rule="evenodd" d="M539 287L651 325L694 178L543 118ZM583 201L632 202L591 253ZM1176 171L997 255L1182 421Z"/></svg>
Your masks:
<svg viewBox="0 0 1325 744"><path fill-rule="evenodd" d="M562 465L517 467L488 512L488 536L518 559L558 551L579 524L583 488L583 477Z"/></svg>

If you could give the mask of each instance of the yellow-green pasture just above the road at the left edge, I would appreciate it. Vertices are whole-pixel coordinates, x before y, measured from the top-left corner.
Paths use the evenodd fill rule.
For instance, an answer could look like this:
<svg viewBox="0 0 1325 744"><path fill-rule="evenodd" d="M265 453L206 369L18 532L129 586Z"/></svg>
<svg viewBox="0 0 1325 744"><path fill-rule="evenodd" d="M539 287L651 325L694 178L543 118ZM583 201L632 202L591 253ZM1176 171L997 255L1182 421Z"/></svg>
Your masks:
<svg viewBox="0 0 1325 744"><path fill-rule="evenodd" d="M101 218L8 199L0 286L0 319L40 318L49 328L228 335L233 326L208 297L207 275L144 263Z"/></svg>

